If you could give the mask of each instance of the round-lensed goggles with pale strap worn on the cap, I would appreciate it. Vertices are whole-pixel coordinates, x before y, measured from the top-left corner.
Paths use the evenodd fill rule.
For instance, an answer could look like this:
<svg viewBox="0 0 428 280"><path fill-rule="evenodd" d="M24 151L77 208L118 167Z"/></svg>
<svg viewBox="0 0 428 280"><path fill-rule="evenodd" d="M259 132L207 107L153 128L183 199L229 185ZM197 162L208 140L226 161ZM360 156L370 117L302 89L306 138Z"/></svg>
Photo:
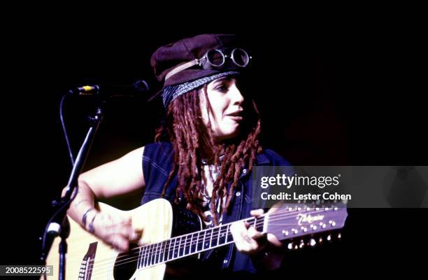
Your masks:
<svg viewBox="0 0 428 280"><path fill-rule="evenodd" d="M238 67L247 66L251 59L250 55L248 55L248 52L242 48L234 48L230 52L229 50L211 49L208 50L203 57L199 59L193 59L190 62L172 69L168 74L166 74L165 80L168 80L176 73L195 65L202 67L202 69L220 69L222 67L229 66L230 64L228 63L228 58L230 58L231 62L233 62L233 64Z"/></svg>

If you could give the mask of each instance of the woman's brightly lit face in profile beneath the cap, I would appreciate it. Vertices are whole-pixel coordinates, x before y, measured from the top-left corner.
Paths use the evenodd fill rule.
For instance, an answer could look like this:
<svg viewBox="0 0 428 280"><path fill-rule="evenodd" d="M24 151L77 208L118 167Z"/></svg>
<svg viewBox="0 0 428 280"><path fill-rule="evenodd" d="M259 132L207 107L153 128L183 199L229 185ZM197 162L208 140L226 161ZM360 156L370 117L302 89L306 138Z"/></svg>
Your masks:
<svg viewBox="0 0 428 280"><path fill-rule="evenodd" d="M215 142L236 137L243 122L243 95L236 85L236 78L224 77L213 80L206 87L211 108L208 109L211 130ZM201 92L201 112L208 124L208 113L204 92Z"/></svg>

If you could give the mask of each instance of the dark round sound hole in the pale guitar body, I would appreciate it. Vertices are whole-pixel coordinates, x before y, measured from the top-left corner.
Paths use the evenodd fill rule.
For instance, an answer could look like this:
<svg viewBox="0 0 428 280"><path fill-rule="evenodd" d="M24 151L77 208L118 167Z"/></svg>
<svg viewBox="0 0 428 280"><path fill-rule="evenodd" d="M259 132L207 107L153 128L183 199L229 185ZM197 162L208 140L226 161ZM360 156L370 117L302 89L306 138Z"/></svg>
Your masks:
<svg viewBox="0 0 428 280"><path fill-rule="evenodd" d="M138 252L133 250L138 247L137 244L129 245L129 252L120 253L117 255L115 261L115 268L113 269L113 276L115 280L129 280L137 269Z"/></svg>

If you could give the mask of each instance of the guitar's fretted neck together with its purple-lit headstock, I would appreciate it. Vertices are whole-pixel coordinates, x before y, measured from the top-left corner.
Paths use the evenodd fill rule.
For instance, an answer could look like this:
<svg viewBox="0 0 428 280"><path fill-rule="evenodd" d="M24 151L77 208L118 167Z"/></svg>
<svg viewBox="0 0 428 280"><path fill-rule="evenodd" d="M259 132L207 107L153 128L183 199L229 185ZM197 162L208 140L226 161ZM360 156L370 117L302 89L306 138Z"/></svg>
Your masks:
<svg viewBox="0 0 428 280"><path fill-rule="evenodd" d="M345 225L346 216L345 207L283 207L274 213L241 221L250 223L258 232L269 232L283 240L341 229ZM230 227L233 223L241 221L141 246L138 253L138 268L151 267L231 244L234 239Z"/></svg>

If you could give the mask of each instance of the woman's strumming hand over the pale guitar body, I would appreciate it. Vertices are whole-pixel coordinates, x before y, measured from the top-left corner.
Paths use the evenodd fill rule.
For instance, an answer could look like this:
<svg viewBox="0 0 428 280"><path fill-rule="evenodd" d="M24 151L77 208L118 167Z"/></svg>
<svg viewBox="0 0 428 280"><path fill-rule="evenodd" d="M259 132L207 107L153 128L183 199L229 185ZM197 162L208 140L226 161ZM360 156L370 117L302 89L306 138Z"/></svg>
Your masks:
<svg viewBox="0 0 428 280"><path fill-rule="evenodd" d="M93 226L94 235L122 252L129 250L129 241L136 241L141 237L141 231L132 227L130 216L98 212Z"/></svg>

